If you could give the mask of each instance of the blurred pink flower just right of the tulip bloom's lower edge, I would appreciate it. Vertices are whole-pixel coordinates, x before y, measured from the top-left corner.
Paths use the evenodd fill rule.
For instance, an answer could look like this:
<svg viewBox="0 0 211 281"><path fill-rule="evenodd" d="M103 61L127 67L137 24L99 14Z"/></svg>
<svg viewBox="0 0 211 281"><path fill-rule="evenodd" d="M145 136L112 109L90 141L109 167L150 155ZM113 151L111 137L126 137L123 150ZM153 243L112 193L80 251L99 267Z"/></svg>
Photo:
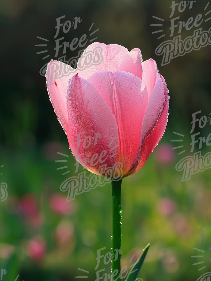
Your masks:
<svg viewBox="0 0 211 281"><path fill-rule="evenodd" d="M175 152L168 144L160 144L155 153L154 158L159 164L170 164L175 159Z"/></svg>

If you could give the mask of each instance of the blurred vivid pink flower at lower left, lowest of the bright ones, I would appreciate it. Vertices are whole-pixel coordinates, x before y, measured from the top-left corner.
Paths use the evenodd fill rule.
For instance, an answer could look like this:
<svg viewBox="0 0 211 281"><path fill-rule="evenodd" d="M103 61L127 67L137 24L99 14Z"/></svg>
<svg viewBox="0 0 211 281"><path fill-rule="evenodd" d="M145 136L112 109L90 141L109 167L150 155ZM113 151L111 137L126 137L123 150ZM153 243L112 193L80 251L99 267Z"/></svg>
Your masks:
<svg viewBox="0 0 211 281"><path fill-rule="evenodd" d="M33 260L40 260L45 255L45 241L42 237L34 237L27 244L27 253Z"/></svg>

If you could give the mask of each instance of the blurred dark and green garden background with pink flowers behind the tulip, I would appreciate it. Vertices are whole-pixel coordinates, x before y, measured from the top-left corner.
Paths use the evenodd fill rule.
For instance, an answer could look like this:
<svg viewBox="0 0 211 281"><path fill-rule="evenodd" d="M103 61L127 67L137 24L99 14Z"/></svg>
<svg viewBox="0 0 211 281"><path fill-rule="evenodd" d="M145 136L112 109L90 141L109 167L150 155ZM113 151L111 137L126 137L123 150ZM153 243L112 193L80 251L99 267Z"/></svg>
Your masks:
<svg viewBox="0 0 211 281"><path fill-rule="evenodd" d="M207 3L197 1L181 14L176 10L175 17L183 21L198 13L204 17ZM162 57L155 55L155 49L170 39L171 4L166 0L1 1L0 166L4 166L0 177L8 185L8 198L0 202L0 266L7 271L2 280L12 281L17 275L18 281L75 280L85 275L77 268L89 271L88 280L95 280L96 251L106 247L106 253L111 248L111 185L80 194L68 203L67 193L59 189L65 178L77 175L75 159L49 102L40 69L55 57L56 19L62 15L65 20L80 17L82 22L65 35L61 31L59 37L71 42L89 35L94 23L92 31L99 30L90 39L98 37L95 41L129 50L140 48L143 60L156 60L170 91L169 121L161 142L143 169L123 180L122 265L129 267L150 243L139 274L144 281L194 281L210 271L210 169L181 182L182 172L175 165L192 155L192 113L210 114L211 51L208 45L160 67ZM159 23L152 16L164 19L165 37L157 39L162 33L152 34L158 28L150 24ZM210 28L210 22L203 22L203 30ZM183 29L182 38L193 35L195 29ZM49 40L46 48L34 46L46 43L37 36ZM44 49L46 54L36 54ZM68 50L66 58L77 56L81 49ZM194 133L207 137L210 128L208 123L203 129L196 125ZM182 145L186 152L181 155L181 149L172 150L178 145L171 142L177 139L173 132L185 135ZM194 151L198 150L196 145ZM203 144L202 155L209 151ZM68 175L57 170L61 163L55 160L65 159L57 152L69 155ZM203 258L191 258L194 255ZM204 263L193 266L201 261ZM203 266L206 268L198 271ZM101 263L99 269L104 267ZM110 272L110 265L105 272Z"/></svg>

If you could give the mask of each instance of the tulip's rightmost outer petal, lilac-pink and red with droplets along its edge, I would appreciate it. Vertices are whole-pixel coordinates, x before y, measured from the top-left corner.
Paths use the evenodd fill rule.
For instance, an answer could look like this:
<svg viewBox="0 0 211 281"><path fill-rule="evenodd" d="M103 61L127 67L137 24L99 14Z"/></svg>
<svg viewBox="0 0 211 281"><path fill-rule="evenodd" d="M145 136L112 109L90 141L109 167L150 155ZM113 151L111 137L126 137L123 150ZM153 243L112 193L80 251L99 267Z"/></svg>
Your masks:
<svg viewBox="0 0 211 281"><path fill-rule="evenodd" d="M168 121L168 89L161 74L158 74L155 87L149 100L143 124L142 124L142 144L140 157L135 164L135 169L130 175L137 172L145 164L150 153L161 140Z"/></svg>

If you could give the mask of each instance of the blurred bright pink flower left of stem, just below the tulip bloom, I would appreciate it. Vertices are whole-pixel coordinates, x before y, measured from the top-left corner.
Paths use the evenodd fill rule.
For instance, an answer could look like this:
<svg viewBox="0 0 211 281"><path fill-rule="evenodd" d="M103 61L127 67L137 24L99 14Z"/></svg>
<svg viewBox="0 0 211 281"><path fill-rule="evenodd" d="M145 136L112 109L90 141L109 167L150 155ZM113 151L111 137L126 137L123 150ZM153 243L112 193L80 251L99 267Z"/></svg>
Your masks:
<svg viewBox="0 0 211 281"><path fill-rule="evenodd" d="M66 196L54 194L50 198L51 209L60 215L68 215L75 210L73 202L66 202Z"/></svg>

